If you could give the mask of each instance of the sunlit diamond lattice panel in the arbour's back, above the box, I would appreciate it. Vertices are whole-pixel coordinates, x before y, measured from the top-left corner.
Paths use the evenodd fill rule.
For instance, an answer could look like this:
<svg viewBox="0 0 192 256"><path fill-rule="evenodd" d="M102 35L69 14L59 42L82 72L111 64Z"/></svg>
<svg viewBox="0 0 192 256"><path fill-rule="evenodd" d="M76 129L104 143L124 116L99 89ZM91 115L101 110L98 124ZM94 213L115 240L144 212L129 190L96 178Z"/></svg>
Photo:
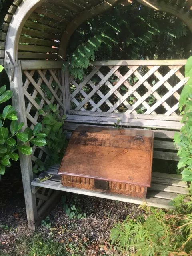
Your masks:
<svg viewBox="0 0 192 256"><path fill-rule="evenodd" d="M182 65L93 66L82 82L70 77L71 106L91 112L177 116L187 81Z"/></svg>

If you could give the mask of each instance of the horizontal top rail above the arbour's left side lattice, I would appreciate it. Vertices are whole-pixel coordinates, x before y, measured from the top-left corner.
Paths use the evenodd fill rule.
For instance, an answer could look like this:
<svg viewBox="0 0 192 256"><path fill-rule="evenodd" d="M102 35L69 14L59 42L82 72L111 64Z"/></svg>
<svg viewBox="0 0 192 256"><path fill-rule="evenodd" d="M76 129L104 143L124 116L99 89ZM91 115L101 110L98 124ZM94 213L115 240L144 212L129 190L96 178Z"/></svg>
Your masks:
<svg viewBox="0 0 192 256"><path fill-rule="evenodd" d="M62 61L50 61L50 60L22 60L22 70L37 70L37 69L60 69L62 68Z"/></svg>

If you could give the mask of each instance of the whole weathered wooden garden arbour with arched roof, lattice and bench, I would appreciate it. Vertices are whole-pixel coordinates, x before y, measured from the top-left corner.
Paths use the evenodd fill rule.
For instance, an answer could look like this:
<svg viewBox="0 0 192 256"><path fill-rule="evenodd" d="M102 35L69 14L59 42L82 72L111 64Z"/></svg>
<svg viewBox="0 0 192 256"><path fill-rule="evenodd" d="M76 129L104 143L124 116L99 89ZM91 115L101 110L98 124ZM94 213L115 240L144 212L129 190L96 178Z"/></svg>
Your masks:
<svg viewBox="0 0 192 256"><path fill-rule="evenodd" d="M93 62L82 82L69 76L67 70L62 70L67 44L76 28L117 2L123 5L131 3L125 0L14 0L0 34L0 63L4 64L10 78L18 120L24 122L24 128L33 127L38 122L39 109L44 105L56 104L60 112L66 114L64 128L67 136L79 124L114 126L114 123L118 123L126 128L157 128L154 130L154 158L178 161L172 140L174 131L182 127L178 100L188 80L183 75L186 60ZM191 1L138 2L178 16L192 30ZM162 66L166 68L166 73L162 73ZM141 67L144 67L143 72L140 72ZM92 80L94 76L98 82ZM131 84L128 78L136 79ZM44 85L51 92L50 98ZM72 86L74 90L70 91ZM88 86L88 91L84 90L84 86ZM142 94L138 90L141 86ZM162 87L164 95L160 95L158 90ZM94 95L97 95L97 101L94 101ZM154 102L149 104L149 97L152 96ZM141 108L143 113L137 114L141 113L138 112ZM158 114L159 108L163 114ZM125 112L122 113L122 110ZM28 224L32 229L52 209L60 190L143 203L142 200L124 196L65 188L57 175L39 183L33 180L32 160L46 157L46 150L42 148L37 151L35 146L32 157L20 156ZM56 174L57 170L58 166L54 166L44 173ZM186 187L181 176L154 172L146 202L151 206L171 208L170 200L176 193L186 194ZM36 198L39 199L38 205Z"/></svg>

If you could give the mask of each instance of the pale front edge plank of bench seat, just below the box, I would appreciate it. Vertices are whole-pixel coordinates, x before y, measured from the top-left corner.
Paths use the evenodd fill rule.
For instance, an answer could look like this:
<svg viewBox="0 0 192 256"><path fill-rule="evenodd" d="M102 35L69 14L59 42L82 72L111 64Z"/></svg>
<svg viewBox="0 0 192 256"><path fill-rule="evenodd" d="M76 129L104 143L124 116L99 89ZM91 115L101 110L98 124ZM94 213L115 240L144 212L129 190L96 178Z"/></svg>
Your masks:
<svg viewBox="0 0 192 256"><path fill-rule="evenodd" d="M147 198L146 200L142 199L136 199L136 198L129 198L128 196L122 196L122 195L116 195L116 194L108 194L105 192L96 192L92 190L84 190L80 188L70 188L70 187L64 187L60 184L60 182L56 181L44 181L44 182L38 182L38 180L33 180L31 182L32 186L38 186L42 188L50 188L65 192L71 192L71 193L77 193L82 194L86 196L96 196L100 198L106 198L111 200L117 200L122 202L129 202L133 204L147 204L148 206L154 206L159 208L165 208L165 209L174 209L174 207L169 205L170 200L160 199L160 198Z"/></svg>

